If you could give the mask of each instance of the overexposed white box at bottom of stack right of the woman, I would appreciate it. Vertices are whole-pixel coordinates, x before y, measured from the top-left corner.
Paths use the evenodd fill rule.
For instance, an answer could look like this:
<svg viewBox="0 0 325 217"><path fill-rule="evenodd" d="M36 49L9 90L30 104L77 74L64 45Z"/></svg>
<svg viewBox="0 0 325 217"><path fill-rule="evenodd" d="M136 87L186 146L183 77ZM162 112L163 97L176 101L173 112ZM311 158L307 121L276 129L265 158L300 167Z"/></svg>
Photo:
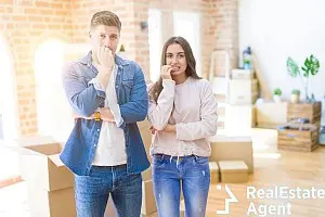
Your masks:
<svg viewBox="0 0 325 217"><path fill-rule="evenodd" d="M250 136L256 126L256 110L252 105L226 105L224 130L227 136Z"/></svg>

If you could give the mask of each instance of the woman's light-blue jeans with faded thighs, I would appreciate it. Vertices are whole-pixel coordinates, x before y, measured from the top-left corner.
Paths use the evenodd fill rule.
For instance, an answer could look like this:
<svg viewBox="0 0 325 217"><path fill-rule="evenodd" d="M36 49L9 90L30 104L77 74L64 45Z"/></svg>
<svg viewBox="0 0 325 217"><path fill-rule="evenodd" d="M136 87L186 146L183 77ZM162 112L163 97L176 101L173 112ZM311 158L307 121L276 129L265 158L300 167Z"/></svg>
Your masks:
<svg viewBox="0 0 325 217"><path fill-rule="evenodd" d="M208 157L155 154L153 184L159 217L180 216L181 188L186 217L204 217L210 187Z"/></svg>

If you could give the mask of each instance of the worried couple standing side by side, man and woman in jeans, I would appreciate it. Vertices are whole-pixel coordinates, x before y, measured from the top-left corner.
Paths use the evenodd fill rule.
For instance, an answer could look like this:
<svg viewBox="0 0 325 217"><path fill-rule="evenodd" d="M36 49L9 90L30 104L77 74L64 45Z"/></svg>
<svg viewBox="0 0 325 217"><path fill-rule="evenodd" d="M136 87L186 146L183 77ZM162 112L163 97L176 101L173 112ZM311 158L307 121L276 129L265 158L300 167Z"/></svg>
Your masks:
<svg viewBox="0 0 325 217"><path fill-rule="evenodd" d="M89 31L92 50L63 74L76 123L61 159L75 174L77 215L103 217L110 195L118 216L140 216L141 173L150 162L136 122L147 117L158 216L179 216L181 189L185 216L205 216L207 138L217 130L210 85L196 74L188 42L171 37L162 49L161 76L147 88L140 66L115 53L120 30L116 14L95 13Z"/></svg>

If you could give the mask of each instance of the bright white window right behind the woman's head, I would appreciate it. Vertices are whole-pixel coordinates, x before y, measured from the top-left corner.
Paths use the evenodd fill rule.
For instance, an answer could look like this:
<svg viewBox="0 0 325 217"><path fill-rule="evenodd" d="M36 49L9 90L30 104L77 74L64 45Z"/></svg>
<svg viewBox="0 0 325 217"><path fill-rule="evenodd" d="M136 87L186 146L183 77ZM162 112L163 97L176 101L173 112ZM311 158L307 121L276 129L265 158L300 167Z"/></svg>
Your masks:
<svg viewBox="0 0 325 217"><path fill-rule="evenodd" d="M192 50L196 60L196 72L202 75L202 63L200 63L200 28L199 28L199 14L198 13L185 13L174 12L173 13L173 35L184 37Z"/></svg>

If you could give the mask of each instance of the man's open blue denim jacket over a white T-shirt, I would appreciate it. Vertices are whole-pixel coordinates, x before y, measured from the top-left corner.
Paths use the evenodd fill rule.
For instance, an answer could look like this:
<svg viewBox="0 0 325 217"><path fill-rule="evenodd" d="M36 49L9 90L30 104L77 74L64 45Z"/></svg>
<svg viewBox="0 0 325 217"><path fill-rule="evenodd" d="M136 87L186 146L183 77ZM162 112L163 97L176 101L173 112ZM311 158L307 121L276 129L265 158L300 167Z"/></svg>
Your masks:
<svg viewBox="0 0 325 217"><path fill-rule="evenodd" d="M147 115L147 92L141 67L115 55L118 66L116 95L120 106L126 138L128 174L139 174L150 166L136 122ZM105 101L105 92L96 90L89 81L98 74L91 64L91 52L78 62L68 64L63 73L63 85L74 112L90 116ZM109 100L109 99L108 99ZM88 176L95 155L102 120L78 118L62 151L61 161L76 175Z"/></svg>

